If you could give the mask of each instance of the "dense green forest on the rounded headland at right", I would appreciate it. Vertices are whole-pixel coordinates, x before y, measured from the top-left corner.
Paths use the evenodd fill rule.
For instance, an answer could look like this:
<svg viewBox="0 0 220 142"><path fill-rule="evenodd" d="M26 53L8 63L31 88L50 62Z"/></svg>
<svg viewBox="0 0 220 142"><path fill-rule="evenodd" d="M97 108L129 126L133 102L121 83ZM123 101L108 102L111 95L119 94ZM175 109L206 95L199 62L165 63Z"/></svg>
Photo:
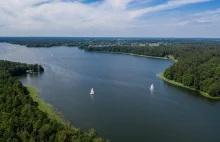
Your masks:
<svg viewBox="0 0 220 142"><path fill-rule="evenodd" d="M220 96L220 56L192 52L165 70L164 76L185 86Z"/></svg>

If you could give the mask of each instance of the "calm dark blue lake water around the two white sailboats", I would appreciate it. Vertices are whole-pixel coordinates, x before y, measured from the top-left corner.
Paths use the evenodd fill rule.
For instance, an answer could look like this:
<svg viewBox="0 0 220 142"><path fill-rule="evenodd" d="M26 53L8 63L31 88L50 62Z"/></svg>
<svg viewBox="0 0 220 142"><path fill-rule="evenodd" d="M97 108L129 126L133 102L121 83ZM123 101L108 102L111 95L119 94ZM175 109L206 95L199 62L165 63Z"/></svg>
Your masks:
<svg viewBox="0 0 220 142"><path fill-rule="evenodd" d="M220 141L220 102L158 78L170 60L6 43L0 43L0 59L42 64L43 74L21 81L39 89L65 120L112 142Z"/></svg>

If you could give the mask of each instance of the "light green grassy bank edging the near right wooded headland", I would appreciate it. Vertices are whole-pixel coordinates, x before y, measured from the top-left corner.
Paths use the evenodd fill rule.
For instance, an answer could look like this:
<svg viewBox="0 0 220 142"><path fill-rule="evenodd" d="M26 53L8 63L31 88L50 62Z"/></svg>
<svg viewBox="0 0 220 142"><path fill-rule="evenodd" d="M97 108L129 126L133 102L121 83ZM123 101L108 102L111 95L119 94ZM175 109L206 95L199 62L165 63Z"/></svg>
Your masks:
<svg viewBox="0 0 220 142"><path fill-rule="evenodd" d="M157 74L157 76L160 77L161 79L163 79L164 81L170 83L170 84L173 84L173 85L176 85L176 86L179 86L179 87L183 87L183 88L187 88L187 89L190 89L190 90L193 90L193 91L197 91L203 97L206 97L206 98L209 98L209 99L215 99L215 100L220 99L220 97L212 97L212 96L210 96L208 93L206 93L204 91L196 90L195 88L185 86L182 83L176 82L174 80L169 80L166 77L164 77L163 73Z"/></svg>

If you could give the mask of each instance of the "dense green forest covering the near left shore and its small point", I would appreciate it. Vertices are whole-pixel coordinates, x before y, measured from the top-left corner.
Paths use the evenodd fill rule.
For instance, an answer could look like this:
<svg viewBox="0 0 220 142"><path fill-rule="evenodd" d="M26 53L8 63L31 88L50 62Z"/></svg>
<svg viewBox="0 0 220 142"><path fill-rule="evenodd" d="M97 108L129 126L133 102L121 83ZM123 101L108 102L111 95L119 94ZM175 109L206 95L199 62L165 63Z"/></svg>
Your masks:
<svg viewBox="0 0 220 142"><path fill-rule="evenodd" d="M68 123L51 120L40 111L16 78L26 70L42 72L43 67L0 60L0 141L104 142L94 129L87 134Z"/></svg>

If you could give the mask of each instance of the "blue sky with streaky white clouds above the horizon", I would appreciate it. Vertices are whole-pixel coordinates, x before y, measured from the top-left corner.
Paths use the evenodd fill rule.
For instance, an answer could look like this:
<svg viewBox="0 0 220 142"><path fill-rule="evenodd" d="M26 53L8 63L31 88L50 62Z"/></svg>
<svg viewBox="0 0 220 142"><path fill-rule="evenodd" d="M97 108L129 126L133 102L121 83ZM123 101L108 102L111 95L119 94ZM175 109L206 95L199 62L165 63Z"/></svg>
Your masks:
<svg viewBox="0 0 220 142"><path fill-rule="evenodd" d="M1 0L0 36L216 37L219 0Z"/></svg>

